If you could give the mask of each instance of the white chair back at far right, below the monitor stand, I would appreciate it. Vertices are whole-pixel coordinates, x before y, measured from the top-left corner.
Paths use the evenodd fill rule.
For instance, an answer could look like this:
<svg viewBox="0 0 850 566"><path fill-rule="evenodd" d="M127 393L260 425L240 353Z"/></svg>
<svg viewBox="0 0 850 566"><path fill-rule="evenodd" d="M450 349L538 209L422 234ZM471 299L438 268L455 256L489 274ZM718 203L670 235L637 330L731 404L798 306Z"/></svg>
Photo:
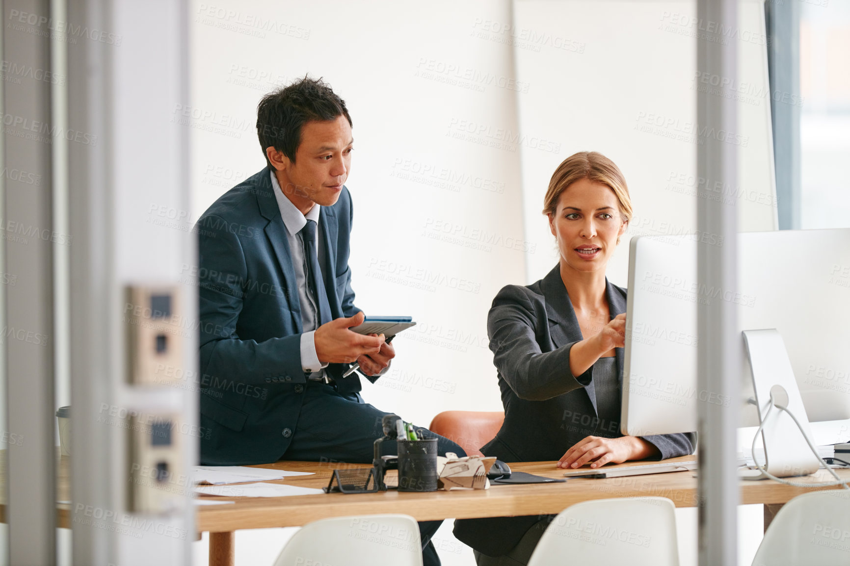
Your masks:
<svg viewBox="0 0 850 566"><path fill-rule="evenodd" d="M797 495L779 509L753 566L850 563L850 490Z"/></svg>

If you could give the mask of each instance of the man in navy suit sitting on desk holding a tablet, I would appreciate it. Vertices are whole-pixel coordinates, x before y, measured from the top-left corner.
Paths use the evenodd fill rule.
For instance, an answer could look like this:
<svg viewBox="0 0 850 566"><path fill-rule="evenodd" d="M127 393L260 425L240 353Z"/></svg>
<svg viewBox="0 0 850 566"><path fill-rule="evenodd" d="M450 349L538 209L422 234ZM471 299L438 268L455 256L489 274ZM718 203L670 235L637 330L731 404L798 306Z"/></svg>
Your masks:
<svg viewBox="0 0 850 566"><path fill-rule="evenodd" d="M364 318L348 267L351 124L321 80L269 93L257 116L267 167L198 220L203 464L371 462L388 413L343 373L356 360L374 382L395 350L349 330ZM440 454L464 455L426 436ZM420 524L426 564L439 564L437 527Z"/></svg>

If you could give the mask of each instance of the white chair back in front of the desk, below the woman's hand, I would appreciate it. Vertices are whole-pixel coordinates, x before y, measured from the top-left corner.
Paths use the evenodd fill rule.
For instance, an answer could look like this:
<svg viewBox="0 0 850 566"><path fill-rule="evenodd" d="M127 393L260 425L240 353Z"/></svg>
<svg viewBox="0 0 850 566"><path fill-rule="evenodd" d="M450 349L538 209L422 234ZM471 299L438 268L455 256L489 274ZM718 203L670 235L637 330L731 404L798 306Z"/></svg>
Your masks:
<svg viewBox="0 0 850 566"><path fill-rule="evenodd" d="M549 524L528 566L678 566L673 509L666 497L576 503Z"/></svg>

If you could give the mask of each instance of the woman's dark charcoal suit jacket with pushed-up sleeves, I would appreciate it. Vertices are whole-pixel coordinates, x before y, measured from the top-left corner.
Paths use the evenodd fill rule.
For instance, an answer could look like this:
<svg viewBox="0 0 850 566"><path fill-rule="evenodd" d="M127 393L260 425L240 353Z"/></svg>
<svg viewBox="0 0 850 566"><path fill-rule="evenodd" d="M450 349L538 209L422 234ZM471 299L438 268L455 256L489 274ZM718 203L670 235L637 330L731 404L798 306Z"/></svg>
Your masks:
<svg viewBox="0 0 850 566"><path fill-rule="evenodd" d="M626 290L606 282L610 316L626 312ZM620 422L605 422L596 410L593 368L570 373L570 349L581 341L575 310L559 266L530 286L509 285L493 299L487 317L493 363L499 375L505 422L481 451L503 461L558 460L587 436L617 438ZM615 348L617 375L623 374L623 348ZM695 435L647 436L660 458L694 451ZM456 521L455 535L488 556L501 556L540 518Z"/></svg>

